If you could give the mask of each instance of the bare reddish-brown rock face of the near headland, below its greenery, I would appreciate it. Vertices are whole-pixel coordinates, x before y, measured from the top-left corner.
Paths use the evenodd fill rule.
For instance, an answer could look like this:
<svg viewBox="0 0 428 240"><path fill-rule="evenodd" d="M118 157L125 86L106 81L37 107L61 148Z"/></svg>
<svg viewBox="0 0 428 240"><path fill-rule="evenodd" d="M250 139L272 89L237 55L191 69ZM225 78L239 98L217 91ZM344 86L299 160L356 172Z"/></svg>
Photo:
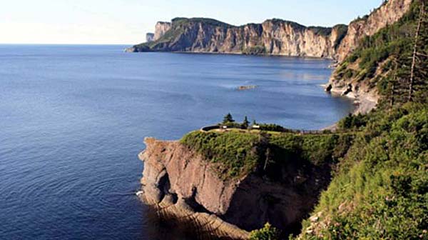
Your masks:
<svg viewBox="0 0 428 240"><path fill-rule="evenodd" d="M267 221L298 231L300 221L330 181L330 166L295 164L285 166L277 180L256 173L242 179L221 179L208 159L178 141L147 138L145 142L147 148L140 154L144 199L218 218L235 236L260 229Z"/></svg>

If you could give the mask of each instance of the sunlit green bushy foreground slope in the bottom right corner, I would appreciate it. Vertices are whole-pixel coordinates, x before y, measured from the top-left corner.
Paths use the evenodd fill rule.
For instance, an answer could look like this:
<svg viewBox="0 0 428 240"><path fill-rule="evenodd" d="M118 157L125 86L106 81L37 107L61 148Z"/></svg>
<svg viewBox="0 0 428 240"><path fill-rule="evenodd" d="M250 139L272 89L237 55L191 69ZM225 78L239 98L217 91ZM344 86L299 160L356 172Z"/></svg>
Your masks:
<svg viewBox="0 0 428 240"><path fill-rule="evenodd" d="M427 106L366 118L314 211L320 219L305 221L304 239L428 238Z"/></svg>

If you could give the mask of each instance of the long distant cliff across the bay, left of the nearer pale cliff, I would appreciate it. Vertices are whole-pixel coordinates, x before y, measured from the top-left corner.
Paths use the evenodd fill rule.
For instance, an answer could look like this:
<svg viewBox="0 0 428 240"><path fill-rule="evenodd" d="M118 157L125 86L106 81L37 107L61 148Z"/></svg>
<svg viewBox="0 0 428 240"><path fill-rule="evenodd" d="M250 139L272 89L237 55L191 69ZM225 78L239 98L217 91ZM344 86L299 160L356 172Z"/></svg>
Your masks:
<svg viewBox="0 0 428 240"><path fill-rule="evenodd" d="M161 26L156 26L156 32ZM162 28L163 29L163 28ZM163 31L159 31L160 33ZM213 19L173 19L170 31L134 51L192 51L228 54L275 54L332 59L346 26L306 27L272 19L263 24L231 26Z"/></svg>

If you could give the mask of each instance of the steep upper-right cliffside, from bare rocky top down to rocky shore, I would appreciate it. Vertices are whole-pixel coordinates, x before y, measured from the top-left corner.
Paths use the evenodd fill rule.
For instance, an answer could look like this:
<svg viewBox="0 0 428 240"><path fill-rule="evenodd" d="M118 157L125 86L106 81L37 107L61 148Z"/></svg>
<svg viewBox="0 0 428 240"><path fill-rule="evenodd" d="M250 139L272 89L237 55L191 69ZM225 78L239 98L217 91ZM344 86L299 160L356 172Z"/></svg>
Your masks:
<svg viewBox="0 0 428 240"><path fill-rule="evenodd" d="M340 51L347 54L340 56L342 61L333 72L327 90L371 106L379 100L392 101L391 92L399 89L399 83L395 83L394 90L390 79L399 76L398 67L405 69L411 65L412 32L419 16L417 6L412 1L388 1L367 18L350 24L349 32L354 37L345 36ZM384 27L378 29L380 26ZM360 44L350 52L349 46L357 40ZM402 66L397 65L399 61ZM394 99L399 100L399 97Z"/></svg>

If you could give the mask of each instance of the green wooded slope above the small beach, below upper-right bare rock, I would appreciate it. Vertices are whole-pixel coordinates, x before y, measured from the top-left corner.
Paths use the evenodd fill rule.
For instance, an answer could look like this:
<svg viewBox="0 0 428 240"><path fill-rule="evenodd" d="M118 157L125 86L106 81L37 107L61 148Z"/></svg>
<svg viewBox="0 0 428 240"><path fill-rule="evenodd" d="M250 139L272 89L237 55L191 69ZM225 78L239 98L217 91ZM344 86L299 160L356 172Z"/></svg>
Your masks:
<svg viewBox="0 0 428 240"><path fill-rule="evenodd" d="M336 79L347 81L364 81L370 89L377 88L383 96L383 101L404 102L404 94L409 89L412 57L416 58L414 76L418 87L424 85L427 77L427 17L424 16L422 28L417 41L417 53L412 56L415 43L415 31L421 19L420 1L414 1L410 11L397 23L381 29L374 36L362 39L360 46L343 61L335 71ZM419 69L418 69L419 68ZM415 82L415 81L414 81ZM424 85L425 90L426 85ZM419 91L422 96L413 96L416 99L427 97L426 91Z"/></svg>

